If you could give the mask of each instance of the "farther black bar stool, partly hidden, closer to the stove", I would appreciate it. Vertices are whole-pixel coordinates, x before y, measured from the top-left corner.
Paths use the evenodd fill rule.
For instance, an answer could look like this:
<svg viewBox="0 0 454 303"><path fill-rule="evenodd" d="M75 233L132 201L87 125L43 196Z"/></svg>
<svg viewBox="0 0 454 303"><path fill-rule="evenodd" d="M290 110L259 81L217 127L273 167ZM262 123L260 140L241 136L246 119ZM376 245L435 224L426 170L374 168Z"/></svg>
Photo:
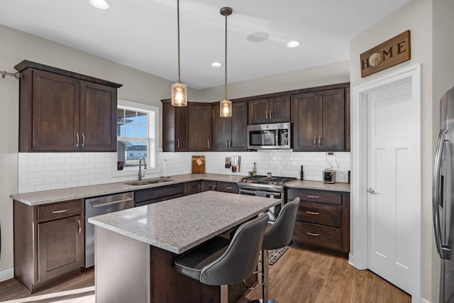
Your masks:
<svg viewBox="0 0 454 303"><path fill-rule="evenodd" d="M268 273L268 250L283 248L292 241L293 228L297 219L299 198L282 207L275 222L268 223L265 237L262 243L262 299L251 302L276 303L268 299L269 273Z"/></svg>

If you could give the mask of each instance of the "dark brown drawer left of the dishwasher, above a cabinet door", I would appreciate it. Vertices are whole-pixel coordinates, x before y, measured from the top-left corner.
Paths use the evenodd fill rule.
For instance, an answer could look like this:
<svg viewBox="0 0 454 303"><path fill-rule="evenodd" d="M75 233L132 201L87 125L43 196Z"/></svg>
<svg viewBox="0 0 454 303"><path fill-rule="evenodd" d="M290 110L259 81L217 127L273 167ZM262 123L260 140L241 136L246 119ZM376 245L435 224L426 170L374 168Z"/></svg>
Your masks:
<svg viewBox="0 0 454 303"><path fill-rule="evenodd" d="M82 199L38 206L38 222L82 214Z"/></svg>

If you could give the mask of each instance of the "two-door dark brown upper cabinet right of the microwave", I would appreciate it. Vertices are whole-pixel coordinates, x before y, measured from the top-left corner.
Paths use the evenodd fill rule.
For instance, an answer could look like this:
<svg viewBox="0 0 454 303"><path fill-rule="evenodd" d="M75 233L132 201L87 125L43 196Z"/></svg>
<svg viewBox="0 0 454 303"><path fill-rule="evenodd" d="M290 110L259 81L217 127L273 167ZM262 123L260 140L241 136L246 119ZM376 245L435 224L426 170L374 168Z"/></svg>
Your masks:
<svg viewBox="0 0 454 303"><path fill-rule="evenodd" d="M349 87L292 95L293 150L350 150Z"/></svg>

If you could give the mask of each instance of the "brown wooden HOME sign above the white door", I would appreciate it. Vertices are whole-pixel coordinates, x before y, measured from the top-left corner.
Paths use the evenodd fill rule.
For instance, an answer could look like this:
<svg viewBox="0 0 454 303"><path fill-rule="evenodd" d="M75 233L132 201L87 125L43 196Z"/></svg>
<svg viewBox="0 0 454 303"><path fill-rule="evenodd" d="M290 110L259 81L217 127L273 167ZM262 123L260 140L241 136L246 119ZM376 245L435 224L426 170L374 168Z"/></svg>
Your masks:
<svg viewBox="0 0 454 303"><path fill-rule="evenodd" d="M410 59L410 31L404 31L360 55L361 77L367 77Z"/></svg>

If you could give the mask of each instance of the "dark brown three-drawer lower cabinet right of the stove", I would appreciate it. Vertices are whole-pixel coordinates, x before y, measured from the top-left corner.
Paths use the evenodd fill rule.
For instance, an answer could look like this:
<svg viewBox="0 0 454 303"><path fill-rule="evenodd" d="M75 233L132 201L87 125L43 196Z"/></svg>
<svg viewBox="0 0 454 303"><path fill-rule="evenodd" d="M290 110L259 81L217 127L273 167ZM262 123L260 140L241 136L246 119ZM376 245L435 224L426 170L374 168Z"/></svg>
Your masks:
<svg viewBox="0 0 454 303"><path fill-rule="evenodd" d="M350 252L350 193L317 189L287 189L287 201L301 199L293 244L348 257Z"/></svg>

